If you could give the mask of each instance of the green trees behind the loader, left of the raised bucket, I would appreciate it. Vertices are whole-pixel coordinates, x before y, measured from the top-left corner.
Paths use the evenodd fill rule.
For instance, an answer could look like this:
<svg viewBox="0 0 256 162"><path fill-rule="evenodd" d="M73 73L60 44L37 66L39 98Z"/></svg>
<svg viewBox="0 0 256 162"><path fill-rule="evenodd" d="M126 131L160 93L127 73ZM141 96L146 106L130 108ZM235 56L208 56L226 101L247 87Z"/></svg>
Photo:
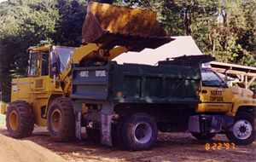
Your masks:
<svg viewBox="0 0 256 162"><path fill-rule="evenodd" d="M9 0L0 3L0 91L9 101L11 78L26 76L30 47L79 46L86 13L82 0Z"/></svg>

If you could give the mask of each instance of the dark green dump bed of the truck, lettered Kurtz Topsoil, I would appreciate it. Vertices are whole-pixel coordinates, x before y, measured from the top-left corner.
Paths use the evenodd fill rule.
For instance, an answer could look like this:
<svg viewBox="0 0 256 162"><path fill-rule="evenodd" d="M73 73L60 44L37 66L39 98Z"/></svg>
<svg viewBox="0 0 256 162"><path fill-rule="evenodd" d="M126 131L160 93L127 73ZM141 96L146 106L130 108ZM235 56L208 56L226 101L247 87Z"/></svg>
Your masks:
<svg viewBox="0 0 256 162"><path fill-rule="evenodd" d="M107 66L74 67L73 100L113 103L199 103L199 67L161 63L157 67L109 61Z"/></svg>

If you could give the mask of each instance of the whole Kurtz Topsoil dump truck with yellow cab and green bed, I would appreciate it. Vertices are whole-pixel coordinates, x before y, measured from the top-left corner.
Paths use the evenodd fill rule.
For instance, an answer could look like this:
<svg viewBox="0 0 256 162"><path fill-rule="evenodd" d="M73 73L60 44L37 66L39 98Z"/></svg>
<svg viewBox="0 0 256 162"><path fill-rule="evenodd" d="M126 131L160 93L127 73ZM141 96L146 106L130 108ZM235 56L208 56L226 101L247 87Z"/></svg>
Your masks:
<svg viewBox="0 0 256 162"><path fill-rule="evenodd" d="M131 150L152 148L158 130L189 130L199 140L225 133L230 142L249 144L255 140L255 95L201 68L212 60L200 55L158 66L109 61L74 67L70 97L81 119L77 126L84 124L94 142Z"/></svg>

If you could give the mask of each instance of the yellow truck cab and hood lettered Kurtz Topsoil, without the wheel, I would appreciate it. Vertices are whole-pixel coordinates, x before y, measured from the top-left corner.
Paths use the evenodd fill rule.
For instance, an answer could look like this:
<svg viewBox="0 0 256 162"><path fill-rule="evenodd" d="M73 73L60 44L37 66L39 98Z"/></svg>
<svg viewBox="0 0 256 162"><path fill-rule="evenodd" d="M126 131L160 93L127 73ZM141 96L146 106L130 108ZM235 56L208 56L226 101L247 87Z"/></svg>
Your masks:
<svg viewBox="0 0 256 162"><path fill-rule="evenodd" d="M238 107L255 107L253 92L226 84L226 81L211 69L201 70L201 104L197 113L225 113L236 116ZM254 101L254 102L253 102Z"/></svg>

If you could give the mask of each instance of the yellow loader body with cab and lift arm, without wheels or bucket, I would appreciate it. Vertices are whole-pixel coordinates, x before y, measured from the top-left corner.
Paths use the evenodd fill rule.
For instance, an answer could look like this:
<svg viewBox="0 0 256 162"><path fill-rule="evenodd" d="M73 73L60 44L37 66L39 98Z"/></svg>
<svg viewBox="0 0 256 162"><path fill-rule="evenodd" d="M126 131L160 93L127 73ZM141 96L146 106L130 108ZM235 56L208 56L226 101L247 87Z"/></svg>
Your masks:
<svg viewBox="0 0 256 162"><path fill-rule="evenodd" d="M106 51L99 49L94 43L78 49L61 46L32 49L29 77L12 80L11 101L22 100L30 103L33 107L35 123L46 125L46 113L50 101L56 97L70 95L72 77L69 74L74 64L79 64L82 60L86 61L84 63L93 61L103 64L126 51L124 47L117 47L108 51L108 56L104 56ZM61 56L66 57L67 60L61 61ZM53 60L60 60L56 61L56 67ZM59 72L54 73L54 68L59 69Z"/></svg>

